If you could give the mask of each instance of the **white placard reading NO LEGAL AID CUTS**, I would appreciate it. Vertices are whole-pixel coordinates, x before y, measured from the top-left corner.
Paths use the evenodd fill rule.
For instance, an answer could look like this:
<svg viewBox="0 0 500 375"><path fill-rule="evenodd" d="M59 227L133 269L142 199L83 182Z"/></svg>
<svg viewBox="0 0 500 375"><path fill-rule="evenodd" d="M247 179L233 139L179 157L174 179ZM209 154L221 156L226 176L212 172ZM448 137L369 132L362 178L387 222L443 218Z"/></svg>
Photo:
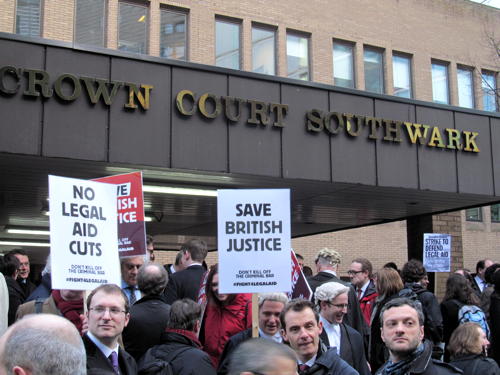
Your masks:
<svg viewBox="0 0 500 375"><path fill-rule="evenodd" d="M116 186L49 176L54 289L120 285Z"/></svg>

